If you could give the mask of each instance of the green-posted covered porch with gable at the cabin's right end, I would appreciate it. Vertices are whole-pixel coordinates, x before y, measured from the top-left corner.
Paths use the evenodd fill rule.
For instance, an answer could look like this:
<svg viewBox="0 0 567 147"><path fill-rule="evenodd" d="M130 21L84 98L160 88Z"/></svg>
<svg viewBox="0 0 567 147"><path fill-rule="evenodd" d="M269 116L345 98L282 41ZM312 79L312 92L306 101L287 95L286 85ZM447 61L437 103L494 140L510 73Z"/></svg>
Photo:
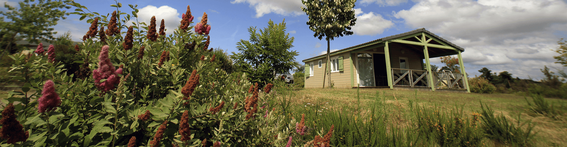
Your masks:
<svg viewBox="0 0 567 147"><path fill-rule="evenodd" d="M414 88L470 92L464 49L425 29L393 35L350 48L352 87ZM460 71L432 71L429 59L457 55Z"/></svg>

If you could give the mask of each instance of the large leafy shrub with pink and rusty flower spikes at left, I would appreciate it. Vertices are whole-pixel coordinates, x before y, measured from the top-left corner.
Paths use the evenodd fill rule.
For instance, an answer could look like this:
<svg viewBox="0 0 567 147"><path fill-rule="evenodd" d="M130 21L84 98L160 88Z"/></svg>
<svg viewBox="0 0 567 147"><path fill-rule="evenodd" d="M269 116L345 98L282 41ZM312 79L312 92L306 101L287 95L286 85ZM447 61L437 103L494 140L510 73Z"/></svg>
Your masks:
<svg viewBox="0 0 567 147"><path fill-rule="evenodd" d="M126 17L70 5L78 8L73 14L91 23L83 43L75 46L81 70L67 76L61 62L43 56L40 47L37 55L11 56L10 72L25 84L2 100L8 104L2 146L291 145L295 119L280 115L271 103L259 110L273 93L260 93L246 74L227 74L207 50L206 14L197 33L189 6L179 28L165 30L162 20L158 32L155 17L149 26L125 24L137 17L133 5ZM167 31L173 35L166 37ZM79 78L73 81L74 76Z"/></svg>

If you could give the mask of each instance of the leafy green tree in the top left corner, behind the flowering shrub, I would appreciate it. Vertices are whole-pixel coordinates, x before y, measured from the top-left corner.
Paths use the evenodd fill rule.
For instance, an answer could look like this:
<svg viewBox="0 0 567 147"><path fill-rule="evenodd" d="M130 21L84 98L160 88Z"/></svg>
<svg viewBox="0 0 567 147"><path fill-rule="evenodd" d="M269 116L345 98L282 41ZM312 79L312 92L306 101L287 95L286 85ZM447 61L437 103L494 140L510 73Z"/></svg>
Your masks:
<svg viewBox="0 0 567 147"><path fill-rule="evenodd" d="M2 36L6 38L6 43L13 44L16 39L16 35L20 35L26 38L29 42L39 43L39 39L54 39L53 34L57 32L52 32L53 28L50 26L57 25L59 19L66 19L64 15L69 15L69 13L60 10L60 8L71 8L65 3L69 3L71 0L24 0L19 2L20 8L13 7L4 4L4 7L8 8L9 11L0 11L2 19L9 19L10 21L5 21L2 24L0 31L7 32ZM6 51L11 50L10 45L7 45L1 51L1 55L5 55ZM0 56L0 60L2 60Z"/></svg>

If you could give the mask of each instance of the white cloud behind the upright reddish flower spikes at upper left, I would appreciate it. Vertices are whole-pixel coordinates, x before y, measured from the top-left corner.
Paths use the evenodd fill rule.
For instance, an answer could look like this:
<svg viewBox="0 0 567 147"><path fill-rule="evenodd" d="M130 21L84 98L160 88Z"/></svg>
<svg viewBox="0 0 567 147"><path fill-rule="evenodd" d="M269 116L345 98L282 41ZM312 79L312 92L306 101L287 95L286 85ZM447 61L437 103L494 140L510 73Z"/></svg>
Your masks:
<svg viewBox="0 0 567 147"><path fill-rule="evenodd" d="M162 22L162 19L165 21L167 29L166 34L173 33L174 30L177 29L177 26L179 26L179 22L181 21L181 14L177 12L175 8L172 8L170 6L161 6L158 8L148 5L139 9L138 22L145 22L147 25L150 25L151 16L155 16L155 23L157 25L156 29L159 29L159 24ZM136 21L136 19L134 19L134 21ZM199 20L193 19L193 21ZM126 25L132 25L132 23L128 22L126 23Z"/></svg>

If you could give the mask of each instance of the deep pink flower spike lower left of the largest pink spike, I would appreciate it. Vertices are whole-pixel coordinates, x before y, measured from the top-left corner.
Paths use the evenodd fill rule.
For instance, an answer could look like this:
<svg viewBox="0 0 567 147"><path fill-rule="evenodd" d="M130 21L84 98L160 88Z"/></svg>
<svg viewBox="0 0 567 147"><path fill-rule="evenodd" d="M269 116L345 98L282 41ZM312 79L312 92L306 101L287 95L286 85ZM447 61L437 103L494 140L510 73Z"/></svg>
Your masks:
<svg viewBox="0 0 567 147"><path fill-rule="evenodd" d="M57 109L61 105L61 99L59 95L55 92L55 83L52 80L48 80L43 85L43 91L41 91L41 97L37 100L39 106L37 106L37 112L44 113L51 110Z"/></svg>

